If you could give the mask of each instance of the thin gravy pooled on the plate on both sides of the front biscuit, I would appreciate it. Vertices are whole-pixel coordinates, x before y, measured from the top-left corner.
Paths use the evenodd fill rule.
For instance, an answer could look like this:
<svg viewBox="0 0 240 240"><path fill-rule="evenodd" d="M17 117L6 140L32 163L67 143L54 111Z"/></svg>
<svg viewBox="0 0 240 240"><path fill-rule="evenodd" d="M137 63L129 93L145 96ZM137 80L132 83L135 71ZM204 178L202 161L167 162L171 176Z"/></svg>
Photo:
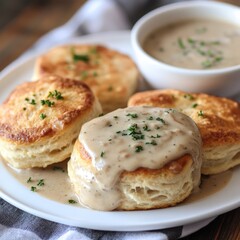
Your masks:
<svg viewBox="0 0 240 240"><path fill-rule="evenodd" d="M54 170L54 166L50 166L46 169L35 168L28 170L13 169L9 166L6 167L7 170L20 183L29 189L29 191L31 191L32 186L36 186L36 194L40 194L56 202L74 204L74 206L76 205L81 207L68 179L66 165L66 162L55 164L54 166L57 167L56 170ZM62 172L62 169L64 172ZM198 200L209 197L218 191L221 191L227 186L231 177L232 170L228 170L226 172L212 176L202 176L199 191L192 193L181 204L185 205L188 203L196 202ZM29 178L31 178L33 181L28 182ZM44 186L37 186L37 183L40 179L44 179Z"/></svg>

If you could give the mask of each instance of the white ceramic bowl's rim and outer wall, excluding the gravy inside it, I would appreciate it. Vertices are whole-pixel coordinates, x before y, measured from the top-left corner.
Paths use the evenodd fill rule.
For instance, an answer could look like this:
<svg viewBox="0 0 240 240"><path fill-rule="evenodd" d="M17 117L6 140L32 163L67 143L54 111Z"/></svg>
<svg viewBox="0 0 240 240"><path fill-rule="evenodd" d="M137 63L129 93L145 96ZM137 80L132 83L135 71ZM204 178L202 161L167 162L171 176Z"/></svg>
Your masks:
<svg viewBox="0 0 240 240"><path fill-rule="evenodd" d="M240 27L240 8L212 1L180 2L143 16L131 32L135 60L143 77L157 89L173 88L220 96L240 93L240 65L208 70L184 69L160 62L143 50L143 41L154 30L187 19L221 20ZM238 51L240 54L240 45Z"/></svg>

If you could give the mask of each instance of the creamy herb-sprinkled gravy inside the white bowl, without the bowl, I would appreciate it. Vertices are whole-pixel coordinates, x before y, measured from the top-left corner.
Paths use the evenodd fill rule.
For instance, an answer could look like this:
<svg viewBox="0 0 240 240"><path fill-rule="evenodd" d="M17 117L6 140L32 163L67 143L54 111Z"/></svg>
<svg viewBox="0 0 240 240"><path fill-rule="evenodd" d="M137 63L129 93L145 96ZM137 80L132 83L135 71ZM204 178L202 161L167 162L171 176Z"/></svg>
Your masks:
<svg viewBox="0 0 240 240"><path fill-rule="evenodd" d="M152 32L144 50L157 60L187 69L240 64L240 27L215 20L186 20Z"/></svg>

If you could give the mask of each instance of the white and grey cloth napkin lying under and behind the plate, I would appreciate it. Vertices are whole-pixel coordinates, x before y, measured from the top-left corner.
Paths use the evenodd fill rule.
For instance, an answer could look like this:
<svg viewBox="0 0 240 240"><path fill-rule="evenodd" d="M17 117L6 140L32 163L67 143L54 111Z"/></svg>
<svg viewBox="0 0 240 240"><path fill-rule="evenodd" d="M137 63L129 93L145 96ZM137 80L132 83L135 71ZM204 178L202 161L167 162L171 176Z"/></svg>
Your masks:
<svg viewBox="0 0 240 240"><path fill-rule="evenodd" d="M66 24L40 38L28 54L34 51L41 52L84 34L130 29L139 13L144 13L141 9L148 10L153 7L149 6L149 2L147 0L89 0ZM161 4L173 1L156 2ZM186 236L207 225L211 220L154 231L96 231L50 222L23 212L0 199L0 240L95 240L100 238L102 240L168 240Z"/></svg>

